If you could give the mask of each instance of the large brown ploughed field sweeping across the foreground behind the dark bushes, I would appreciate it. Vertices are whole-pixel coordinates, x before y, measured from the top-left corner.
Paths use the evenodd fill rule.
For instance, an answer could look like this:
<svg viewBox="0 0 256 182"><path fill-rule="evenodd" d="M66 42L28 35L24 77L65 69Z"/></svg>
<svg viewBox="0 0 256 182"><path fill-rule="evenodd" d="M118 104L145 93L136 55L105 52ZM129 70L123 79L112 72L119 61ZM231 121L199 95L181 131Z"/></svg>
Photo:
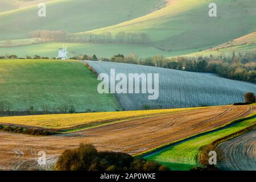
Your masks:
<svg viewBox="0 0 256 182"><path fill-rule="evenodd" d="M130 121L112 123L92 129L76 131L69 135L35 137L15 133L0 132L0 168L18 170L53 169L54 163L66 149L80 143L93 143L98 150L120 151L139 154L155 147L191 137L205 131L217 129L238 118L255 112L255 106L217 106L187 110L180 113L137 118ZM11 162L12 152L23 144L22 162ZM19 147L22 148L22 147ZM33 148L31 152L31 148ZM35 155L45 151L48 164L38 166ZM17 164L18 163L18 164Z"/></svg>

